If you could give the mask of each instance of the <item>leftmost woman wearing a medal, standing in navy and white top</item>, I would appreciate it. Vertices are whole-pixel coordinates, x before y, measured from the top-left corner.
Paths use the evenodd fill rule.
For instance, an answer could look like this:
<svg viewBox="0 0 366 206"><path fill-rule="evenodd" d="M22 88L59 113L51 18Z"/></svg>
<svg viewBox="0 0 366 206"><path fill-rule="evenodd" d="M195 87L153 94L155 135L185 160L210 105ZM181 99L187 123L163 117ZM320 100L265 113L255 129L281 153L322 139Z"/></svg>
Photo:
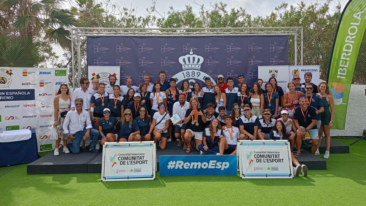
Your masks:
<svg viewBox="0 0 366 206"><path fill-rule="evenodd" d="M105 84L99 83L98 88L98 93L91 96L90 104L90 107L93 108L90 109L90 116L91 121L94 122L94 128L99 128L99 120L104 117L103 110L108 108L108 93L104 92Z"/></svg>

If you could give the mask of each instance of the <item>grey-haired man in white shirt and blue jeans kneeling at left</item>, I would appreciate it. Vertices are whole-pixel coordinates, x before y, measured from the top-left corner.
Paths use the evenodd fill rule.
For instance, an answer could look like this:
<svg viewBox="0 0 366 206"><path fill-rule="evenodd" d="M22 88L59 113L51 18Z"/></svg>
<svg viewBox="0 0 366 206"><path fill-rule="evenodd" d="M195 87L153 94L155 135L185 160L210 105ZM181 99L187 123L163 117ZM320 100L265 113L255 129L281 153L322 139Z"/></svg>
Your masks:
<svg viewBox="0 0 366 206"><path fill-rule="evenodd" d="M91 152L98 153L99 150L96 150L95 146L99 132L91 128L89 113L82 108L83 99L76 98L74 104L76 109L66 114L62 127L64 134L71 140L68 148L72 153L78 154L80 152L79 145L83 137L85 139L91 138Z"/></svg>

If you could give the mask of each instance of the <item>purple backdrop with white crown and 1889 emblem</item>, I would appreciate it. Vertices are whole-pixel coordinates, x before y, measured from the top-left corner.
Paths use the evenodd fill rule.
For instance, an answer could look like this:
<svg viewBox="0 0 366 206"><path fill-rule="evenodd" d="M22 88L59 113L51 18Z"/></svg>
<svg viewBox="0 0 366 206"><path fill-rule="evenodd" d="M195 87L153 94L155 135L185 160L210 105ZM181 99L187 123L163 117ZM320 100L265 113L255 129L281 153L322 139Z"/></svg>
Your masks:
<svg viewBox="0 0 366 206"><path fill-rule="evenodd" d="M158 81L165 70L166 79L203 81L209 76L229 76L238 83L243 73L252 85L258 78L258 66L288 65L287 36L224 37L87 37L88 66L120 66L120 80L131 76L134 85L148 73ZM138 82L137 82L138 80ZM202 82L200 82L203 87Z"/></svg>

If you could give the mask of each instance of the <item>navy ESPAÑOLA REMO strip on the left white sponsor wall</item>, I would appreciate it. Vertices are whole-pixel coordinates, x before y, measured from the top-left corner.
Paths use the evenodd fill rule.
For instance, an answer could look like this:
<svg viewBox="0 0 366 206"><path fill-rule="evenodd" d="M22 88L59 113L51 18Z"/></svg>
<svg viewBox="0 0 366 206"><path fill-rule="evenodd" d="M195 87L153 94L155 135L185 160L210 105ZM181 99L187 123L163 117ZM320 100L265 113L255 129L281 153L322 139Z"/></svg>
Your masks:
<svg viewBox="0 0 366 206"><path fill-rule="evenodd" d="M34 89L1 89L0 101L34 100Z"/></svg>

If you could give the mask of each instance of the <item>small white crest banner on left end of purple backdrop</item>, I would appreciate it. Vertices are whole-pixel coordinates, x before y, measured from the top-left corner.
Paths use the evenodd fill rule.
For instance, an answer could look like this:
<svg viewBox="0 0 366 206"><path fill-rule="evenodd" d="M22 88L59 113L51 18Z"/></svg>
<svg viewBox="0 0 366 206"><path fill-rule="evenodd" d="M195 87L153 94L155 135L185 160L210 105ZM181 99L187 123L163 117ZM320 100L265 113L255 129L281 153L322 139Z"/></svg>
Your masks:
<svg viewBox="0 0 366 206"><path fill-rule="evenodd" d="M109 84L109 76L115 75L117 77L116 84L120 85L120 66L88 66L88 79L91 82L94 78L98 78L99 83ZM90 88L93 85L90 83Z"/></svg>

